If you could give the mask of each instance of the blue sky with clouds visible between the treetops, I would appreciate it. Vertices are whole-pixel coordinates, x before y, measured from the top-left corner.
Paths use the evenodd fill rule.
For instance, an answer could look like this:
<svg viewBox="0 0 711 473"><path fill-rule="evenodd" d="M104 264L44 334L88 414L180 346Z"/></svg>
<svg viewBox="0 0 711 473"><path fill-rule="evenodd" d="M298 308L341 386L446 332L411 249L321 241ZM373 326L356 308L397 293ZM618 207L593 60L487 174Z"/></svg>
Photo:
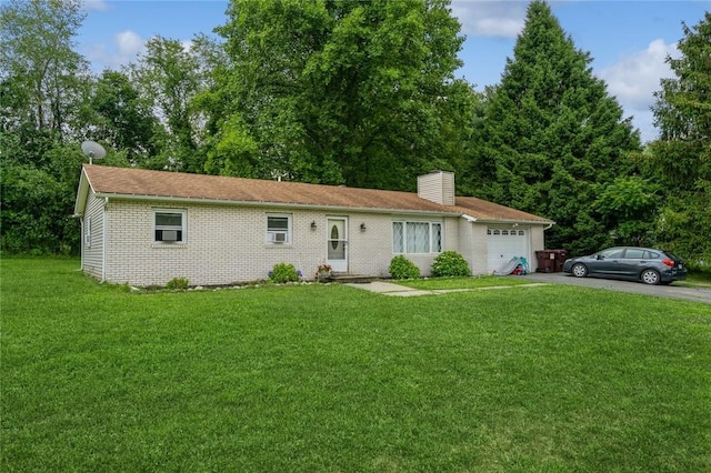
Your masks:
<svg viewBox="0 0 711 473"><path fill-rule="evenodd" d="M227 4L226 0L88 0L78 51L97 72L119 69L133 61L156 34L186 43L197 33L210 34L227 21ZM672 77L664 59L678 56L675 44L684 36L682 21L689 27L698 24L711 9L711 0L565 0L549 4L575 47L590 52L593 73L608 83L625 117L634 117L642 140L657 138L649 108L660 79ZM478 89L499 82L507 58L513 57L527 6L522 0L452 1L452 12L467 37L460 52L464 67L458 76Z"/></svg>

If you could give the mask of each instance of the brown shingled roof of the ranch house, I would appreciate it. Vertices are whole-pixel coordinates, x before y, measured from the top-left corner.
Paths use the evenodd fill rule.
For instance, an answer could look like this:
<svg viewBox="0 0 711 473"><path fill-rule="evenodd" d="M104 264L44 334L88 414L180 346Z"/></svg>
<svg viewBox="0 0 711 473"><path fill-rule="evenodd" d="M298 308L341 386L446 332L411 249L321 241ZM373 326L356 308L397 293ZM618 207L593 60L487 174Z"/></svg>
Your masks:
<svg viewBox="0 0 711 473"><path fill-rule="evenodd" d="M76 213L83 213L87 193L123 199L210 201L216 203L308 207L378 212L464 214L483 221L553 223L477 198L457 198L455 205L441 205L413 192L382 191L342 185L188 174L133 168L84 164Z"/></svg>

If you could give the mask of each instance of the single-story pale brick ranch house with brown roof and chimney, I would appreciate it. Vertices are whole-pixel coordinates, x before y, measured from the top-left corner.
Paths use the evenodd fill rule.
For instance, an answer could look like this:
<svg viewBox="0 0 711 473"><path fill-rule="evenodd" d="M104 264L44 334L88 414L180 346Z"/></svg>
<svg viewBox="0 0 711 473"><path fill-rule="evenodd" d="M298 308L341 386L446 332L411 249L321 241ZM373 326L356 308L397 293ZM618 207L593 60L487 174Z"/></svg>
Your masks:
<svg viewBox="0 0 711 473"><path fill-rule="evenodd" d="M313 279L336 273L388 278L403 254L422 275L442 251L473 274L512 256L535 270L542 217L454 197L454 175L418 178L418 192L228 178L87 164L77 193L81 268L101 281L164 285L187 278L221 285L268 278L291 263Z"/></svg>

